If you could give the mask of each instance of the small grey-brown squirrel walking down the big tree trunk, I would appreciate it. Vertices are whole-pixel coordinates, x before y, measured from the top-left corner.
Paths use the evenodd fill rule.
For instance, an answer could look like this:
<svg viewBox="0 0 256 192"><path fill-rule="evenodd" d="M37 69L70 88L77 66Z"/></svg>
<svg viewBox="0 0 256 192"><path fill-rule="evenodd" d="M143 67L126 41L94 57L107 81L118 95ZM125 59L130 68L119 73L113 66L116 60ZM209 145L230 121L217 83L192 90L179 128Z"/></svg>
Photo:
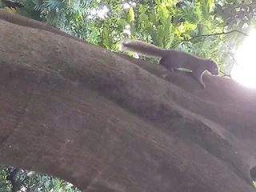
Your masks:
<svg viewBox="0 0 256 192"><path fill-rule="evenodd" d="M205 89L202 74L208 70L211 74L218 75L218 64L212 58L198 58L180 50L166 50L152 44L134 39L125 39L121 42L123 51L132 51L153 58L161 58L159 64L167 70L184 68L192 70L194 78Z"/></svg>

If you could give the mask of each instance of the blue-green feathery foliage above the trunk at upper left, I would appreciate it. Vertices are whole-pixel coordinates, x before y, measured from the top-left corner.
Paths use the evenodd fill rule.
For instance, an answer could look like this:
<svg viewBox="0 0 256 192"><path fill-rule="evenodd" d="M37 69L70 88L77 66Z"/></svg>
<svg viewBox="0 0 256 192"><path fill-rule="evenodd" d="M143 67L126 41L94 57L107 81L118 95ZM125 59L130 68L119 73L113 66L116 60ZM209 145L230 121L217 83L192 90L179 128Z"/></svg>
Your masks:
<svg viewBox="0 0 256 192"><path fill-rule="evenodd" d="M90 0L16 0L16 2L22 5L16 7L18 14L45 22L80 38L80 34L85 34L85 18Z"/></svg>

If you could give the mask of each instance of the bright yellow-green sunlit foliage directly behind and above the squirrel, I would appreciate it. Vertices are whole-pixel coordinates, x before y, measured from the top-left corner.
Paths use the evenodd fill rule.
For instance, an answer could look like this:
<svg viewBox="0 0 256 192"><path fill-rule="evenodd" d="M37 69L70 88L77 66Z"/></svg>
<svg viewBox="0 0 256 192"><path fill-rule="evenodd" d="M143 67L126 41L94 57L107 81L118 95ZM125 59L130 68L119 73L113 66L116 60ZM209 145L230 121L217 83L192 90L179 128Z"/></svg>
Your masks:
<svg viewBox="0 0 256 192"><path fill-rule="evenodd" d="M97 37L94 43L98 42L99 45L110 50L117 50L118 42L122 38L142 39L163 48L184 50L203 58L214 58L221 64L221 70L227 74L234 65L234 48L240 44L244 35L235 31L230 34L226 32L231 30L246 32L249 29L238 26L238 23L237 25L233 23L233 26L226 25L225 14L218 14L220 7L230 10L237 10L235 7L244 7L242 2L238 1L156 0L141 1L138 5L136 2L124 1L117 6L118 3L102 1L102 6L107 6L111 14L104 19L94 18L90 22L88 30L97 31L90 33ZM247 3L253 6L252 1ZM125 4L126 9L123 6ZM246 19L243 18L243 20ZM253 18L246 20L248 25L251 22ZM102 31L102 26L106 23L109 30Z"/></svg>

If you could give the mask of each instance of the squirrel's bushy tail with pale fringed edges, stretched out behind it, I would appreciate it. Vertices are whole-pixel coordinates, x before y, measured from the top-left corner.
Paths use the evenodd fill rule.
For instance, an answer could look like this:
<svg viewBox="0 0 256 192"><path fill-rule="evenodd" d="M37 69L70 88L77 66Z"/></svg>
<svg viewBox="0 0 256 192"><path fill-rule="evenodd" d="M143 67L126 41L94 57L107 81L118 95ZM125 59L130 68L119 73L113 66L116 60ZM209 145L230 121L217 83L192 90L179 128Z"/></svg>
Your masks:
<svg viewBox="0 0 256 192"><path fill-rule="evenodd" d="M139 55L163 58L167 54L167 50L139 40L125 39L121 42L121 46L123 51L128 50Z"/></svg>

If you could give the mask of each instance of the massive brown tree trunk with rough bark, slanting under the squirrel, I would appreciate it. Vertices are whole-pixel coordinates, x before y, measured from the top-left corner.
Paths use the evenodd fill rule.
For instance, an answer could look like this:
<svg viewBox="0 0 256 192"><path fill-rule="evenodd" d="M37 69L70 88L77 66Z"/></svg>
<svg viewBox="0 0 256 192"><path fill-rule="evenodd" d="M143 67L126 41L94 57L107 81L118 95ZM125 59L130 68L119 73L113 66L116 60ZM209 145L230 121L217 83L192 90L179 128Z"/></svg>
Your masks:
<svg viewBox="0 0 256 192"><path fill-rule="evenodd" d="M255 90L2 10L0 42L0 163L83 191L254 191Z"/></svg>

